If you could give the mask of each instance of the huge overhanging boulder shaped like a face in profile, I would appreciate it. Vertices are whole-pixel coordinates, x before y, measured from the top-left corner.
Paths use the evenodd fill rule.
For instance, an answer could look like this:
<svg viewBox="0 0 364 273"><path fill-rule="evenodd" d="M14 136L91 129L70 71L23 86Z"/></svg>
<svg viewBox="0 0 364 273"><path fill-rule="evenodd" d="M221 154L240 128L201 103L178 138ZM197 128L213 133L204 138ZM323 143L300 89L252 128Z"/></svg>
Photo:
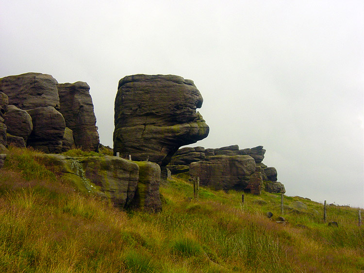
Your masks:
<svg viewBox="0 0 364 273"><path fill-rule="evenodd" d="M165 166L180 146L207 137L192 80L174 75L133 75L119 81L115 99L114 154Z"/></svg>

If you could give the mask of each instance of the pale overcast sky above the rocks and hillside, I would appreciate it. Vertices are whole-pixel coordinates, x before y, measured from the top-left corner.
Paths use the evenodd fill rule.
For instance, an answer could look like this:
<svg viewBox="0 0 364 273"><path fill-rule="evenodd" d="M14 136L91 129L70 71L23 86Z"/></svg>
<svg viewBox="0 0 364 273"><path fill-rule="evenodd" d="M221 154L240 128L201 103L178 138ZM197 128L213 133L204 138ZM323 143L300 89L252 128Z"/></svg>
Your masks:
<svg viewBox="0 0 364 273"><path fill-rule="evenodd" d="M194 80L209 136L264 145L290 196L364 207L362 0L0 0L0 78L91 86L113 146L118 80Z"/></svg>

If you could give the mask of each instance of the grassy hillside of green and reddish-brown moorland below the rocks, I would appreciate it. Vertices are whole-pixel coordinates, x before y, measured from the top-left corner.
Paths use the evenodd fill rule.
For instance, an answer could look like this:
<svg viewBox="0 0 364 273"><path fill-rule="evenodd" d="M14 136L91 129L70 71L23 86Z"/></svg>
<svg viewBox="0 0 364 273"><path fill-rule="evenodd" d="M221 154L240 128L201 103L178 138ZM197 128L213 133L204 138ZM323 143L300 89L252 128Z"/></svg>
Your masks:
<svg viewBox="0 0 364 273"><path fill-rule="evenodd" d="M229 273L362 272L358 209L285 196L200 189L174 177L161 186L163 211L120 211L78 193L13 148L0 170L0 272ZM307 206L293 209L293 205ZM273 217L268 219L266 212Z"/></svg>

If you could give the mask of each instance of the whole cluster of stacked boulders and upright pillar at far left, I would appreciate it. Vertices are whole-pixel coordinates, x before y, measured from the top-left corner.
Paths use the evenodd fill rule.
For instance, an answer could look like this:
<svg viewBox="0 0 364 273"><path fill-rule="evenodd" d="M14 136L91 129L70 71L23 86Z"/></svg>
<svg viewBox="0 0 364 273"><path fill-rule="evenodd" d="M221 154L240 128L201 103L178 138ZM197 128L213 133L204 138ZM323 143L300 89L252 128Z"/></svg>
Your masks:
<svg viewBox="0 0 364 273"><path fill-rule="evenodd" d="M58 84L51 75L41 73L0 79L0 101L6 96L9 104L1 109L0 146L32 146L46 153L60 153L75 147L74 128L77 145L97 151L99 134L88 91L86 83Z"/></svg>

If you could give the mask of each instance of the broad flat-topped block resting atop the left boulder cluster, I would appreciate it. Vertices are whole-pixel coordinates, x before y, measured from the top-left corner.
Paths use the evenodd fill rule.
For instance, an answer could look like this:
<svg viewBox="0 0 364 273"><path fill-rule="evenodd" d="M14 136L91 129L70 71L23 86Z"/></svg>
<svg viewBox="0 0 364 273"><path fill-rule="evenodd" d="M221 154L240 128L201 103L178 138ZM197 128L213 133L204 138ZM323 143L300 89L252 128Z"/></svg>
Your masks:
<svg viewBox="0 0 364 273"><path fill-rule="evenodd" d="M59 109L57 83L51 75L25 73L0 79L0 92L9 97L9 104L23 110L47 106Z"/></svg>

